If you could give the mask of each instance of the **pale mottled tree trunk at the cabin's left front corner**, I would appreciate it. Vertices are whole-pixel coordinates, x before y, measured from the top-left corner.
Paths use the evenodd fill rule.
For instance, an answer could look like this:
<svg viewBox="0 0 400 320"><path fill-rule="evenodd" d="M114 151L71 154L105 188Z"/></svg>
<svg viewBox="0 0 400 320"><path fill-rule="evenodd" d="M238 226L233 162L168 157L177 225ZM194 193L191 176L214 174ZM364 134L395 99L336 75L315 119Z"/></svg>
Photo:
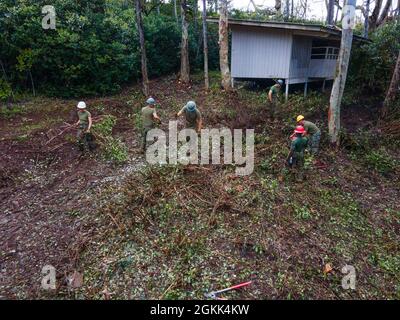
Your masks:
<svg viewBox="0 0 400 320"><path fill-rule="evenodd" d="M229 0L220 0L219 9L219 66L221 69L221 84L225 90L230 90L232 88L228 59L228 1Z"/></svg>

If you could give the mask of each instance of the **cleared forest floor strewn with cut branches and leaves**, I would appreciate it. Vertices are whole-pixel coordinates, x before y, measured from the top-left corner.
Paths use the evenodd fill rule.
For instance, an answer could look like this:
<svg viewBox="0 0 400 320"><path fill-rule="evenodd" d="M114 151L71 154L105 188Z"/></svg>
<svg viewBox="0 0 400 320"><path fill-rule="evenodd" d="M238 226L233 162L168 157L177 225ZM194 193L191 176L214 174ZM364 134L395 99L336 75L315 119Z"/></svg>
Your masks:
<svg viewBox="0 0 400 320"><path fill-rule="evenodd" d="M0 298L193 299L248 280L225 297L400 298L399 154L373 113L343 111L336 153L326 97L293 95L274 122L265 93L226 94L214 77L205 94L202 84L200 76L190 88L152 81L161 127L193 99L205 127L255 128L252 175L236 176L232 165L146 164L139 86L86 100L93 116L117 117L112 134L128 147L120 165L100 150L82 155L74 131L57 136L76 121L75 101L36 98L2 111ZM299 113L322 128L325 164L308 155L302 184L284 166ZM56 269L55 291L40 287L45 265ZM345 265L356 270L355 290L341 286ZM83 283L71 289L74 272Z"/></svg>

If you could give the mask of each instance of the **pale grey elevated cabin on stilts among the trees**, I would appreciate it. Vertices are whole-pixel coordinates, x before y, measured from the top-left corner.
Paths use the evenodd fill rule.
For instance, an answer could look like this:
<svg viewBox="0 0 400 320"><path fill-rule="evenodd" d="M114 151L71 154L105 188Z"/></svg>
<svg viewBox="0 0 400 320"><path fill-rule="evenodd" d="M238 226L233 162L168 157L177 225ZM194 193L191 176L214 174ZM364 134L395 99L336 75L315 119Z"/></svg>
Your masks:
<svg viewBox="0 0 400 320"><path fill-rule="evenodd" d="M291 84L304 83L306 95L309 82L322 81L324 90L325 81L335 77L341 38L336 27L229 19L229 28L233 84L235 79L284 79L287 99Z"/></svg>

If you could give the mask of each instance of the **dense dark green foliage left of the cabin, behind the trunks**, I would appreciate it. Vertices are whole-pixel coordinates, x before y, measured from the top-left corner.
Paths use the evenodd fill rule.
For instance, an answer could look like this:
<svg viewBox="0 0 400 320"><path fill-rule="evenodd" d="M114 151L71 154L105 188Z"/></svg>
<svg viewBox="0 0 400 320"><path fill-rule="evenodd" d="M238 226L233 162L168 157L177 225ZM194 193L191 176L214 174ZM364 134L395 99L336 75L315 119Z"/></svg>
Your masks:
<svg viewBox="0 0 400 320"><path fill-rule="evenodd" d="M0 3L3 100L10 94L4 81L18 90L36 86L48 95L71 97L110 94L128 81L139 79L139 42L131 1L54 0L56 30L42 28L45 15L41 10L47 4L36 0ZM177 71L179 24L171 14L157 14L154 10L146 13L150 76ZM215 30L210 30L211 68L217 63ZM196 32L193 27L190 31L191 62L200 67L201 25Z"/></svg>

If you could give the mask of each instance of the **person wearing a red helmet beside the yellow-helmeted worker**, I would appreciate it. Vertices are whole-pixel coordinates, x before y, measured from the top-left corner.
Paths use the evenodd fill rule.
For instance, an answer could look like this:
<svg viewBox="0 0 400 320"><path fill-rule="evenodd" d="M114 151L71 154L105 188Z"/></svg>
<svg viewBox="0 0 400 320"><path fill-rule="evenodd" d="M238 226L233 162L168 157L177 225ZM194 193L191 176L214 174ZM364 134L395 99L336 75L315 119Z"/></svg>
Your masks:
<svg viewBox="0 0 400 320"><path fill-rule="evenodd" d="M296 181L303 180L304 150L307 148L308 139L304 137L304 127L297 126L292 135L292 143L287 157L289 167L294 170Z"/></svg>

